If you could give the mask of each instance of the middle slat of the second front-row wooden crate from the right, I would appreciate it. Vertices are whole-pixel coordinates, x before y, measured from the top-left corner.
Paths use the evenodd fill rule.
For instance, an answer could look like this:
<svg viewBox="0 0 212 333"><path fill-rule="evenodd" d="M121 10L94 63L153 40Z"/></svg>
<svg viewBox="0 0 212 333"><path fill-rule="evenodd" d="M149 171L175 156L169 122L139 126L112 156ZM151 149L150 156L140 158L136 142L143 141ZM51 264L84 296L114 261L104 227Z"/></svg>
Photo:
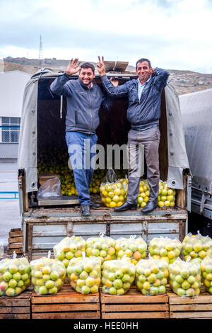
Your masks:
<svg viewBox="0 0 212 333"><path fill-rule="evenodd" d="M102 312L134 312L134 311L141 311L141 312L163 312L168 311L169 305L166 304L128 304L128 305L105 305L102 304Z"/></svg>

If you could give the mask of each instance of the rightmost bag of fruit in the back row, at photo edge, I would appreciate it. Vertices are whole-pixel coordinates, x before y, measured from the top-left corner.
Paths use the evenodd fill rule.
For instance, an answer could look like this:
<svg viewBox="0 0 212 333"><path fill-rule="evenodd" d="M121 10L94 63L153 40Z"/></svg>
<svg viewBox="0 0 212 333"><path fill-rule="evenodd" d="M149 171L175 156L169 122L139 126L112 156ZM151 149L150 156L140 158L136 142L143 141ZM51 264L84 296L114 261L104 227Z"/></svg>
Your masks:
<svg viewBox="0 0 212 333"><path fill-rule="evenodd" d="M205 256L212 256L212 239L209 236L202 236L199 231L197 235L187 234L182 241L182 255L184 260L189 256L204 259Z"/></svg>

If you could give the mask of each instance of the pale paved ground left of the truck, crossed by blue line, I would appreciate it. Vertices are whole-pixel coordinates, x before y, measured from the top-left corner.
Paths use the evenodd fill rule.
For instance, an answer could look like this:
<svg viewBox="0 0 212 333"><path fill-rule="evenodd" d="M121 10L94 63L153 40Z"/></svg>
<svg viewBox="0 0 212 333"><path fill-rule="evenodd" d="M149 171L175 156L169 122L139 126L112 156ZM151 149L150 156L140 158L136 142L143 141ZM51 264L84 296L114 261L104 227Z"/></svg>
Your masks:
<svg viewBox="0 0 212 333"><path fill-rule="evenodd" d="M0 192L18 191L16 163L0 163ZM12 228L21 227L19 201L13 198L14 194L0 193L0 243L8 243L8 232ZM1 199L6 197L6 199Z"/></svg>

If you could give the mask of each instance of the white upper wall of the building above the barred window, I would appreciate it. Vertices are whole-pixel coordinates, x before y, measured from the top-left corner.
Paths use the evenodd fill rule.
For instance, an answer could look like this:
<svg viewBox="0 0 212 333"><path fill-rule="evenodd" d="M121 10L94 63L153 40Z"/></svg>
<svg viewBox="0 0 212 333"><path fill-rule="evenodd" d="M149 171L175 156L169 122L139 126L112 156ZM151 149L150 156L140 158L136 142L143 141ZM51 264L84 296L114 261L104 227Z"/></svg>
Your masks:
<svg viewBox="0 0 212 333"><path fill-rule="evenodd" d="M11 71L0 73L0 117L20 117L25 85L31 74Z"/></svg>

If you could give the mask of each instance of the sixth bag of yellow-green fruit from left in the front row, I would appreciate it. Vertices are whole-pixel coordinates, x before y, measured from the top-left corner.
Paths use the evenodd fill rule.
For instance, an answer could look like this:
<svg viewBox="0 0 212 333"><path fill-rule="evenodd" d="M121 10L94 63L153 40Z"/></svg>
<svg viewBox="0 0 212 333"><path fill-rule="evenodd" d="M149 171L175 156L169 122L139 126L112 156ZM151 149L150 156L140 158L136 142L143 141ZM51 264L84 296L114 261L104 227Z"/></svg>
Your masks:
<svg viewBox="0 0 212 333"><path fill-rule="evenodd" d="M182 261L180 258L169 265L170 287L179 296L197 296L201 287L199 259Z"/></svg>

